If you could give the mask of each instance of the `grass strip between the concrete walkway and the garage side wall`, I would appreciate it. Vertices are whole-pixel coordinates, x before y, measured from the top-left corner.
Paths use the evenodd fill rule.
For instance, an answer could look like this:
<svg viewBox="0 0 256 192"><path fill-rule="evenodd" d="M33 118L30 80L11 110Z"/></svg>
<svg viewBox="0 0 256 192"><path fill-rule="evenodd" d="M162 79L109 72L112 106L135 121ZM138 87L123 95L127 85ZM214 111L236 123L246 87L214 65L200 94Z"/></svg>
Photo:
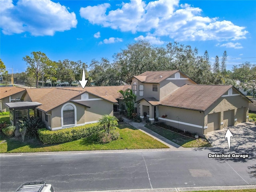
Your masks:
<svg viewBox="0 0 256 192"><path fill-rule="evenodd" d="M176 132L172 132L170 130L154 125L146 125L145 127L182 147L211 147L210 143L204 138L195 139L186 137Z"/></svg>

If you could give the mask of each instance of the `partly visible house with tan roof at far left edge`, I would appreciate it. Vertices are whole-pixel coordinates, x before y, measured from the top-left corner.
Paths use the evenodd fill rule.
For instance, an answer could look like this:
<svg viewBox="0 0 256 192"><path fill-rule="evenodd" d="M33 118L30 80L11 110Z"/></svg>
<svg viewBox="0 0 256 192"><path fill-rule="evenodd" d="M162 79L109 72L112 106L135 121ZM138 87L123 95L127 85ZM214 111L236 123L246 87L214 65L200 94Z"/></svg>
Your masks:
<svg viewBox="0 0 256 192"><path fill-rule="evenodd" d="M8 112L9 108L5 103L20 102L25 91L25 88L20 87L0 87L0 111Z"/></svg>

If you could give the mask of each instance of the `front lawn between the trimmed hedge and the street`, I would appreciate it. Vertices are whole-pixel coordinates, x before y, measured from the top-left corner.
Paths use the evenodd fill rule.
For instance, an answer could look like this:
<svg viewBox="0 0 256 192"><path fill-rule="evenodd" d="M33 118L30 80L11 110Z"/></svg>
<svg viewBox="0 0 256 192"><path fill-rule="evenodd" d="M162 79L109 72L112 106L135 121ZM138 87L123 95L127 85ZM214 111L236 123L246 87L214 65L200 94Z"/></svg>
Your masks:
<svg viewBox="0 0 256 192"><path fill-rule="evenodd" d="M120 124L117 131L120 133L120 138L107 144L98 144L91 138L82 138L80 140L62 144L43 145L36 139L25 139L25 142L22 143L21 138L3 138L1 136L0 140L6 139L6 142L0 144L0 152L14 153L168 148L166 145L128 124Z"/></svg>

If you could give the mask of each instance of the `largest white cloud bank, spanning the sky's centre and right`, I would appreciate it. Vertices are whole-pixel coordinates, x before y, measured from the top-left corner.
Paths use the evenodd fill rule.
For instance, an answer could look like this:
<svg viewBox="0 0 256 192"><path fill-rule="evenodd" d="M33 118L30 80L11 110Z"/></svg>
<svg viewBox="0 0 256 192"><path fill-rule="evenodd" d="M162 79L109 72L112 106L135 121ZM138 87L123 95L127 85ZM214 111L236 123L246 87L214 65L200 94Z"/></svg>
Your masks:
<svg viewBox="0 0 256 192"><path fill-rule="evenodd" d="M92 24L125 32L150 32L152 36L169 36L174 40L239 40L248 33L243 26L217 17L201 16L200 8L181 4L178 0L144 2L132 0L111 10L110 4L80 9L82 18ZM96 13L96 14L95 14Z"/></svg>

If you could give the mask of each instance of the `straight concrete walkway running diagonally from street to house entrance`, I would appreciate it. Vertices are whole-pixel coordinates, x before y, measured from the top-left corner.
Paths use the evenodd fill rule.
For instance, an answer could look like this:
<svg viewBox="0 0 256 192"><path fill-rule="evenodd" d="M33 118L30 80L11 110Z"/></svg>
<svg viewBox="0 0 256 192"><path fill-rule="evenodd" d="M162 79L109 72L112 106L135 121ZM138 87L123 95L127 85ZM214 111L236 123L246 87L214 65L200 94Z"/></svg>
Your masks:
<svg viewBox="0 0 256 192"><path fill-rule="evenodd" d="M161 143L165 144L169 148L183 148L182 146L180 146L180 145L166 139L165 137L155 133L154 131L144 127L144 125L146 125L144 122L140 122L140 123L133 122L132 120L127 119L125 117L123 117L123 119L124 119L124 122L126 122L127 124L130 124L131 126L135 127L136 129L146 133L147 135L151 136L152 138L154 138L154 139L160 141Z"/></svg>

